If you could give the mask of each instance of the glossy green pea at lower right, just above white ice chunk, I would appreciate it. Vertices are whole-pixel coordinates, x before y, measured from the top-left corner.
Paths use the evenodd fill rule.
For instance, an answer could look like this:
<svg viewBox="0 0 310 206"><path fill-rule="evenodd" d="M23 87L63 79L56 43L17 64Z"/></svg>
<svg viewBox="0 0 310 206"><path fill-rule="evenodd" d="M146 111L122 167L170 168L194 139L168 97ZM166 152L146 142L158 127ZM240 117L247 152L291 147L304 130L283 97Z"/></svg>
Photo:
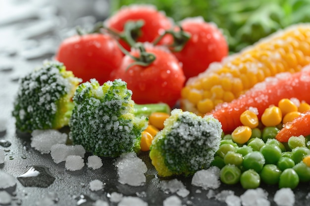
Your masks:
<svg viewBox="0 0 310 206"><path fill-rule="evenodd" d="M299 184L299 176L293 168L285 169L279 179L279 188L295 189Z"/></svg>

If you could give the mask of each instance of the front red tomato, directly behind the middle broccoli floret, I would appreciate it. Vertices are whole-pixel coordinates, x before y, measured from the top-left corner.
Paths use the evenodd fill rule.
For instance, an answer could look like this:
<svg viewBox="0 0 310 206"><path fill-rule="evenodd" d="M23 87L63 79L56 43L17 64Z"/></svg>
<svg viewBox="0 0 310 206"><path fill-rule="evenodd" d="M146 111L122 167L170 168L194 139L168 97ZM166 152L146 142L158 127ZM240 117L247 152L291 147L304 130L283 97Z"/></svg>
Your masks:
<svg viewBox="0 0 310 206"><path fill-rule="evenodd" d="M132 99L135 103L163 102L173 107L180 98L185 82L182 67L167 48L148 45L146 51L155 55L155 60L151 64L129 67L135 60L125 55L119 69L112 73L113 77L127 82L127 87L132 90ZM139 57L140 51L132 49L130 54Z"/></svg>

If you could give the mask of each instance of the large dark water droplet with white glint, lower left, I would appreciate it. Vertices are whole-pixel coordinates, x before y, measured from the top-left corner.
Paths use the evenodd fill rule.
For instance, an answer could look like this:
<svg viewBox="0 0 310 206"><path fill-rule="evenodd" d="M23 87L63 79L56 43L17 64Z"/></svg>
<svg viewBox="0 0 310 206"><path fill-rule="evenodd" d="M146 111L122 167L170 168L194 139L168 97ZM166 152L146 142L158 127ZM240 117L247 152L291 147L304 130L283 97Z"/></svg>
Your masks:
<svg viewBox="0 0 310 206"><path fill-rule="evenodd" d="M17 179L24 187L48 187L54 182L55 177L52 176L48 167L34 165Z"/></svg>

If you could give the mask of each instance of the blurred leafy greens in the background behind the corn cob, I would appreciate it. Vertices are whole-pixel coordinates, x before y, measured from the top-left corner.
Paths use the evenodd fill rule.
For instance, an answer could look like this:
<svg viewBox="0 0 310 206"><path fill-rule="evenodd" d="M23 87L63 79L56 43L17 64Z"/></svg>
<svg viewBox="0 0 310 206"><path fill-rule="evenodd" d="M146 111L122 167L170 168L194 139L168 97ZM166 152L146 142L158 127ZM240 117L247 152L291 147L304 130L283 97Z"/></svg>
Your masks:
<svg viewBox="0 0 310 206"><path fill-rule="evenodd" d="M214 22L231 53L281 28L310 22L310 0L111 0L111 12L140 3L155 5L176 22L194 16Z"/></svg>

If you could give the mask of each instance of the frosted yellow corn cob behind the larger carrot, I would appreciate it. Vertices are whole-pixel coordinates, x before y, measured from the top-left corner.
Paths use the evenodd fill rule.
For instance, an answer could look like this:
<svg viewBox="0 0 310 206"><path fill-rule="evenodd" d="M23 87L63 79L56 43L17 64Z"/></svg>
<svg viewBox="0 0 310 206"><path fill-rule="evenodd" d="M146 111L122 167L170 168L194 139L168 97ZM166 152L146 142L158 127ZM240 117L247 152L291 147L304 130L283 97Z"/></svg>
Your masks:
<svg viewBox="0 0 310 206"><path fill-rule="evenodd" d="M254 84L310 64L310 24L297 24L263 38L191 78L182 89L181 108L204 115Z"/></svg>

